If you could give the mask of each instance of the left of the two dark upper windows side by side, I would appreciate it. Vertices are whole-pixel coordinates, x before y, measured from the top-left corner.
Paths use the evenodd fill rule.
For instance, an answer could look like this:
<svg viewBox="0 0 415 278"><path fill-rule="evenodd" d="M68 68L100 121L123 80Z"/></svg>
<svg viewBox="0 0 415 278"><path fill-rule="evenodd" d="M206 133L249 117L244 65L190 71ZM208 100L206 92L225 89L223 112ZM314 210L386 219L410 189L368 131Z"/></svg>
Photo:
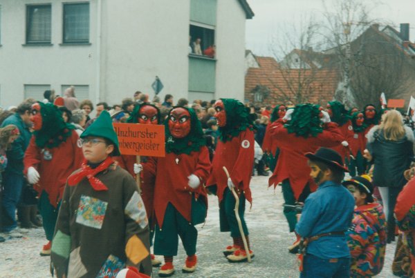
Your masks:
<svg viewBox="0 0 415 278"><path fill-rule="evenodd" d="M51 33L50 4L26 6L26 43L50 43Z"/></svg>

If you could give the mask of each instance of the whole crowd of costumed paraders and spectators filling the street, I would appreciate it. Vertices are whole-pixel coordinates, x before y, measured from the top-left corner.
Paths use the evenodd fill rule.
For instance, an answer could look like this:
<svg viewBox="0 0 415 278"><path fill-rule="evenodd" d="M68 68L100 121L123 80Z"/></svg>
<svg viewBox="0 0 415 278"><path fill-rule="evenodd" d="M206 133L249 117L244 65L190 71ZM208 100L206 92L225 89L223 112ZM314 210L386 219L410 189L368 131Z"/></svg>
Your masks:
<svg viewBox="0 0 415 278"><path fill-rule="evenodd" d="M165 157L122 154L113 123L164 125ZM230 235L220 253L254 261L244 214L255 199L250 179L261 175L282 190L300 277L378 275L392 241L394 275L413 277L411 123L370 103L175 103L137 91L109 106L78 101L73 87L63 97L47 90L0 112L0 242L42 226L39 254L59 278L169 277L180 237L181 271L192 273L195 226L216 195Z"/></svg>

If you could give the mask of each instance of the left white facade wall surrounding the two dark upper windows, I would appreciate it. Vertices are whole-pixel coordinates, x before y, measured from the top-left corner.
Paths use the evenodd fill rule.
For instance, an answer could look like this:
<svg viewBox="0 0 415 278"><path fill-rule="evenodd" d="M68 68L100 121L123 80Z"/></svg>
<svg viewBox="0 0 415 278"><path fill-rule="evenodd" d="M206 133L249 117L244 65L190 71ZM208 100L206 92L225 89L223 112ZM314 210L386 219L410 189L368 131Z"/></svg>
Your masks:
<svg viewBox="0 0 415 278"><path fill-rule="evenodd" d="M17 105L24 99L24 85L50 85L61 95L62 85L87 85L89 96L95 90L96 4L90 2L91 45L62 46L63 4L77 0L55 0L52 3L51 46L24 46L26 43L26 5L44 0L0 0L0 105ZM76 57L76 59L74 59ZM76 94L76 92L75 92Z"/></svg>

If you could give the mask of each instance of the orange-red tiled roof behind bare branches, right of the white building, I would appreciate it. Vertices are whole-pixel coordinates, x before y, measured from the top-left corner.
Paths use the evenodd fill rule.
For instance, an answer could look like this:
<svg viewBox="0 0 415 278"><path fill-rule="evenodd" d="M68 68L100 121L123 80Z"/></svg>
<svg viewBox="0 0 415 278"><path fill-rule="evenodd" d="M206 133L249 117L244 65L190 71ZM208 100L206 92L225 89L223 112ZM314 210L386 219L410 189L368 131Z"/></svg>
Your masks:
<svg viewBox="0 0 415 278"><path fill-rule="evenodd" d="M249 68L245 77L245 99L254 103L252 90L256 86L266 86L270 95L264 103L275 105L291 101L297 104L295 92L303 88L303 102L326 103L333 99L340 76L337 70L311 69L288 70L279 68L272 57L257 57L259 68Z"/></svg>

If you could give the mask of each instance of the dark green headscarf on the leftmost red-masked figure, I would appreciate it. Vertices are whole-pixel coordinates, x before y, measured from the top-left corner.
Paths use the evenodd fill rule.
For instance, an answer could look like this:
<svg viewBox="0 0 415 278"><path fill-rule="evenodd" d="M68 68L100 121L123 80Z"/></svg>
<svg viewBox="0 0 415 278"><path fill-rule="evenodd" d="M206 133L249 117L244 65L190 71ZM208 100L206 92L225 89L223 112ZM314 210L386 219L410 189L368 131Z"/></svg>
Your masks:
<svg viewBox="0 0 415 278"><path fill-rule="evenodd" d="M42 128L33 132L35 143L39 148L55 148L71 137L75 126L65 123L62 112L52 103L37 101L42 115Z"/></svg>

